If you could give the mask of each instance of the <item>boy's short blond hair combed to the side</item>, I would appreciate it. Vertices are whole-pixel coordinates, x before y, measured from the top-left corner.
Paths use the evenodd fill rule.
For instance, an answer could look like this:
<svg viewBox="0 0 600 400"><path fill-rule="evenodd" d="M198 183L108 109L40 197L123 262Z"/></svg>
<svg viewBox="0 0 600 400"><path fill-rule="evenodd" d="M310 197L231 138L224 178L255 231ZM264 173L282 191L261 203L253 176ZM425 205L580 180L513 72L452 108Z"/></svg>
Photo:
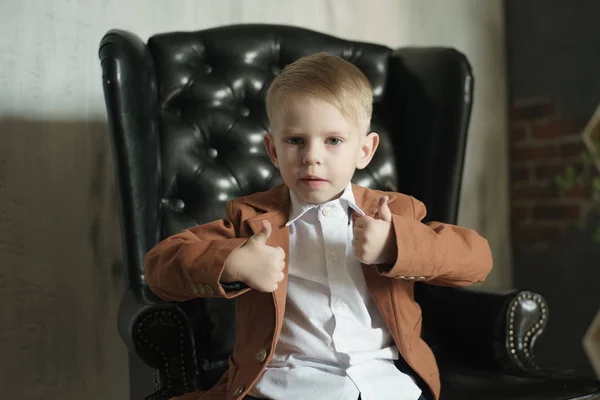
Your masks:
<svg viewBox="0 0 600 400"><path fill-rule="evenodd" d="M289 95L327 101L350 121L367 131L373 114L373 91L367 77L354 64L327 53L302 57L288 64L267 91L267 116L285 107Z"/></svg>

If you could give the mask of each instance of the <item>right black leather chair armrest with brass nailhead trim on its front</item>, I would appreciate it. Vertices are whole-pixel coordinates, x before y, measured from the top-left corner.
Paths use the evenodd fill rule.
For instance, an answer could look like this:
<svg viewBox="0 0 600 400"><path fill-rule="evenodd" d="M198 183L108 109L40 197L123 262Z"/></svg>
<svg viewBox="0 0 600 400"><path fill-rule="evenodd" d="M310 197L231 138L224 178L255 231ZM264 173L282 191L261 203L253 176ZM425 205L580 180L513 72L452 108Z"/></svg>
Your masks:
<svg viewBox="0 0 600 400"><path fill-rule="evenodd" d="M438 357L519 375L543 372L533 352L549 315L541 295L417 286L424 339Z"/></svg>

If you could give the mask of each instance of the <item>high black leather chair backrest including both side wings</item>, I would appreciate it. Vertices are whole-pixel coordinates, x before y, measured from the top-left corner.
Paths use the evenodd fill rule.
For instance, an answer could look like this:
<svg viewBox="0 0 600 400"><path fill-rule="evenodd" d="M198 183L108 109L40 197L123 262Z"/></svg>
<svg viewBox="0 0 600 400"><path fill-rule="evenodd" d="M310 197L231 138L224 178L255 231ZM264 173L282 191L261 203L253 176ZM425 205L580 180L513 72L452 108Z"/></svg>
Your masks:
<svg viewBox="0 0 600 400"><path fill-rule="evenodd" d="M266 90L285 65L322 51L357 65L374 91L380 147L353 181L411 194L428 218L456 221L473 84L459 52L392 50L278 25L165 33L147 44L111 31L100 57L132 290L151 296L142 260L160 239L281 182L262 143ZM199 349L206 365L231 350L233 318L222 315L229 305L203 307L197 315L210 328L202 342L220 342Z"/></svg>

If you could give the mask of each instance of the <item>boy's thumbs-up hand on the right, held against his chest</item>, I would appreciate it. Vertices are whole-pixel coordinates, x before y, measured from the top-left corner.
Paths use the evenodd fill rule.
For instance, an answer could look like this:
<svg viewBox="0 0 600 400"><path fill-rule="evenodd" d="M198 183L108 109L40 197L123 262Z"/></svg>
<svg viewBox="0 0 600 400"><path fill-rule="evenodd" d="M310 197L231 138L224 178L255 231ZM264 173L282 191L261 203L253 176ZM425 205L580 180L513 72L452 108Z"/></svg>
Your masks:
<svg viewBox="0 0 600 400"><path fill-rule="evenodd" d="M378 218L361 216L354 223L354 255L363 264L392 264L397 249L388 197L379 199Z"/></svg>

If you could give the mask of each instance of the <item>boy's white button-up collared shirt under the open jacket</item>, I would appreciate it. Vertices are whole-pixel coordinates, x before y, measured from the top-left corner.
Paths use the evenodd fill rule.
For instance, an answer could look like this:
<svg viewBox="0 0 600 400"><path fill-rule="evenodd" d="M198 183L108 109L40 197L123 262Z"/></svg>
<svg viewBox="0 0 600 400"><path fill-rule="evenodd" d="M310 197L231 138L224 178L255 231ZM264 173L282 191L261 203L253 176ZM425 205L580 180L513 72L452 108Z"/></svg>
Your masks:
<svg viewBox="0 0 600 400"><path fill-rule="evenodd" d="M281 336L250 394L267 399L416 400L398 349L352 250L351 184L339 199L292 200L288 288Z"/></svg>

